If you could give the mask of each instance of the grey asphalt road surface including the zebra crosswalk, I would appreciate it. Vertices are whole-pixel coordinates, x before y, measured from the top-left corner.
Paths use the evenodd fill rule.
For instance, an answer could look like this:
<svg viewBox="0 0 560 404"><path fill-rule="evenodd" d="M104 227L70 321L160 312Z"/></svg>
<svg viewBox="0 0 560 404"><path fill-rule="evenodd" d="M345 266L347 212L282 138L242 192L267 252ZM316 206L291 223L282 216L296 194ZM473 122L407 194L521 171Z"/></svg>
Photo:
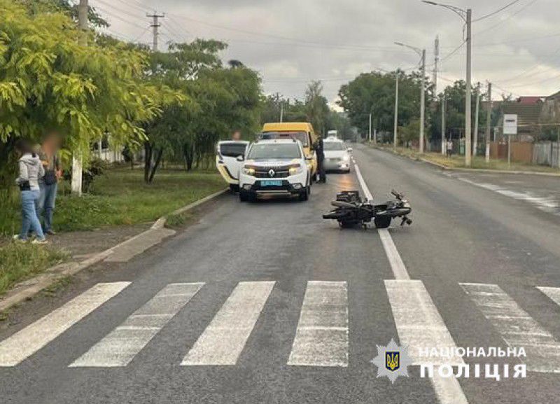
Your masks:
<svg viewBox="0 0 560 404"><path fill-rule="evenodd" d="M358 188L355 170L316 184L309 202L228 195L126 268L23 307L22 321L0 332L0 401L559 402L560 216L480 186L491 181L477 174L449 176L363 146L353 154L375 200L391 188L409 197L412 227L396 225L382 242L377 230L323 221L337 190ZM559 179L535 178L511 181L557 192ZM392 338L523 346L526 358L464 361L530 370L442 386L413 365L391 384L370 360Z"/></svg>

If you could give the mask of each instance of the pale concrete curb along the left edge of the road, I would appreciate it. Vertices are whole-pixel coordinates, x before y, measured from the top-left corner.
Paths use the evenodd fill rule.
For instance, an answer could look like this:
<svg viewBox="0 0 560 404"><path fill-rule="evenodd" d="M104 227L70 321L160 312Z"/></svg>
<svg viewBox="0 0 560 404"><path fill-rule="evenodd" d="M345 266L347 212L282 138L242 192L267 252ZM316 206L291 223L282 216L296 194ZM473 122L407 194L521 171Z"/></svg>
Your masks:
<svg viewBox="0 0 560 404"><path fill-rule="evenodd" d="M191 209L195 209L195 207L199 207L201 204L204 204L205 202L209 202L210 200L213 200L214 198L223 195L226 192L228 192L227 188L218 191L217 193L208 195L207 197L204 197L201 200L197 200L196 202L188 204L186 207L177 209L176 211L173 211L171 214L167 216L182 214L186 211L190 211ZM29 300L34 295L41 292L43 289L48 288L59 279L62 279L64 277L69 277L73 274L77 274L78 272L85 270L87 267L97 264L102 260L110 259L113 253L115 253L119 249L126 250L127 246L134 245L135 242L137 242L142 237L151 236L154 233L158 233L160 235L160 237L158 237L159 241L151 246L160 244L165 238L174 235L176 233L175 230L170 230L165 228L165 223L167 222L167 216L162 216L158 218L158 220L155 221L155 223L148 230L141 232L140 234L135 235L134 237L131 237L130 239L127 239L124 242L117 244L116 246L112 246L110 249L106 249L105 251L97 253L94 256L91 256L90 258L83 260L81 263L71 262L71 263L55 265L54 267L48 268L47 270L45 270L45 272L39 274L34 278L27 279L26 281L20 282L19 284L15 285L10 291L8 291L6 295L0 298L0 312L6 311L7 309L10 309L10 307L13 307L14 305L18 305L19 303L25 300ZM132 256L136 256L139 255L140 253L143 253L144 251L146 251L146 249L148 249L151 246L148 246L145 249L141 249L141 251L137 251L136 253L129 252L127 254L125 252L125 257L130 259L132 258Z"/></svg>

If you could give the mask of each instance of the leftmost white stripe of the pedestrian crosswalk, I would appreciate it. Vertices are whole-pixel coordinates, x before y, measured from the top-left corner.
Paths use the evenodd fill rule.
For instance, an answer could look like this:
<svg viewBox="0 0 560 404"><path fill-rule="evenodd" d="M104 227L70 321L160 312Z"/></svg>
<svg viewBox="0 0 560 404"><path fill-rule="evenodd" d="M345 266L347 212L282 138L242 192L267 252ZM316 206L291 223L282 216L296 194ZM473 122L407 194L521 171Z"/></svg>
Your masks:
<svg viewBox="0 0 560 404"><path fill-rule="evenodd" d="M118 295L130 282L97 284L0 342L0 366L15 366Z"/></svg>

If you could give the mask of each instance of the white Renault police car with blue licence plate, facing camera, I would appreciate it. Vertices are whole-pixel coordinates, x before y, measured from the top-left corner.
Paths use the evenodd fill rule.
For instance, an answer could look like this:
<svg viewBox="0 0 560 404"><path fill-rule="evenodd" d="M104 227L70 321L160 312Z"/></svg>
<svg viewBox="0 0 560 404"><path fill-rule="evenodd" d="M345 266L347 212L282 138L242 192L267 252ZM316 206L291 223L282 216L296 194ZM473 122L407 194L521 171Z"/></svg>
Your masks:
<svg viewBox="0 0 560 404"><path fill-rule="evenodd" d="M239 172L239 200L260 195L297 195L308 200L311 168L299 140L260 140L251 144Z"/></svg>

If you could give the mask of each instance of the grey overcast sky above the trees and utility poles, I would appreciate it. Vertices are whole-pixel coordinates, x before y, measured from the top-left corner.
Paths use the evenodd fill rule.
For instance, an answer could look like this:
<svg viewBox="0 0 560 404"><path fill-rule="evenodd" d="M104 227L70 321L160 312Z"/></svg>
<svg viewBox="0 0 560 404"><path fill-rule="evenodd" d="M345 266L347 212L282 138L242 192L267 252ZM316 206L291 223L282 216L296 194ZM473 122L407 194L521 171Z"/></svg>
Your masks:
<svg viewBox="0 0 560 404"><path fill-rule="evenodd" d="M449 0L481 18L512 0ZM439 90L465 75L463 22L453 12L419 0L90 0L123 39L151 43L146 12L165 13L160 43L195 38L230 44L225 61L237 59L260 72L265 92L304 97L320 79L325 96L337 99L340 85L374 69L412 69L414 51L395 41L426 48L433 69L434 39L440 36ZM494 83L494 98L550 95L560 90L559 0L519 0L473 24L473 79Z"/></svg>

